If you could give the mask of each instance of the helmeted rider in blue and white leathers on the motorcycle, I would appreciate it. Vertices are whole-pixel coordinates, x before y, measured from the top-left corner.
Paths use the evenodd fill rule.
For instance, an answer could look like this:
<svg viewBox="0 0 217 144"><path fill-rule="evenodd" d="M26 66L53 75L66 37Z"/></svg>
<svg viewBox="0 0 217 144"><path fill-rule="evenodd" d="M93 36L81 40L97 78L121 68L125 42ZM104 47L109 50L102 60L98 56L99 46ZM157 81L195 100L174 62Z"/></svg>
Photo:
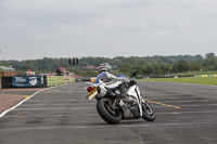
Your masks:
<svg viewBox="0 0 217 144"><path fill-rule="evenodd" d="M120 90L120 94L123 96L123 101L127 102L127 83L130 83L130 79L124 75L116 75L112 71L112 66L108 63L102 63L100 65L100 74L97 77L94 83L99 83L100 81L105 82L105 87L110 90Z"/></svg>

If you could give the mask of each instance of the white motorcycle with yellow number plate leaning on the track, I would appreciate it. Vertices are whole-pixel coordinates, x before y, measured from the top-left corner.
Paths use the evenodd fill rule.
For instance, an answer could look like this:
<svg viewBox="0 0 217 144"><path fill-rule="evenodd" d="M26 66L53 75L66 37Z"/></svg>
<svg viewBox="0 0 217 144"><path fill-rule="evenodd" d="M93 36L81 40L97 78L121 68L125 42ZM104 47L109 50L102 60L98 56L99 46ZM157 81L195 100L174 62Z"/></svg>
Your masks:
<svg viewBox="0 0 217 144"><path fill-rule="evenodd" d="M137 75L132 73L130 79ZM104 82L91 83L87 82L88 91L87 97L91 101L97 99L97 110L104 121L110 125L117 125L123 119L138 119L143 118L146 121L154 121L155 114L152 106L145 102L141 94L140 88L135 80L128 84L128 101L123 101L120 91L110 90ZM122 83L122 81L118 81Z"/></svg>

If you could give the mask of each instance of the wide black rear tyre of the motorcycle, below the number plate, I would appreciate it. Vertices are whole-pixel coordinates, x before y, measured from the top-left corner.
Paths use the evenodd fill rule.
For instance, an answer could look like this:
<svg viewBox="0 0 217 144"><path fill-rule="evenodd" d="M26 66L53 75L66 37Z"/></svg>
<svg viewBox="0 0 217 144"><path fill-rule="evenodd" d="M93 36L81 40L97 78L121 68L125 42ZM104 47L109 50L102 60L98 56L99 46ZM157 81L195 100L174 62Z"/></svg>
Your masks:
<svg viewBox="0 0 217 144"><path fill-rule="evenodd" d="M100 99L97 103L97 110L99 115L110 125L117 125L122 120L122 113L119 109L112 108L112 101L108 99Z"/></svg>

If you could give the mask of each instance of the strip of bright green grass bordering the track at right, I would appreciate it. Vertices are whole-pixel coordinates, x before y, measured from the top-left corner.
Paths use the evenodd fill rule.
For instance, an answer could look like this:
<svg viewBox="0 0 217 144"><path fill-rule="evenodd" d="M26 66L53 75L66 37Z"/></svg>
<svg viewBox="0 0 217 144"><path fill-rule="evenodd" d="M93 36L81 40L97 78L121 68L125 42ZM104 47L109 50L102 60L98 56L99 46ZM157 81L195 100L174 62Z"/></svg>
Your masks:
<svg viewBox="0 0 217 144"><path fill-rule="evenodd" d="M170 81L170 82L182 82L182 83L195 83L195 84L217 86L217 77L206 77L206 78L195 78L195 77L187 77L187 78L158 78L158 79L142 79L141 81Z"/></svg>

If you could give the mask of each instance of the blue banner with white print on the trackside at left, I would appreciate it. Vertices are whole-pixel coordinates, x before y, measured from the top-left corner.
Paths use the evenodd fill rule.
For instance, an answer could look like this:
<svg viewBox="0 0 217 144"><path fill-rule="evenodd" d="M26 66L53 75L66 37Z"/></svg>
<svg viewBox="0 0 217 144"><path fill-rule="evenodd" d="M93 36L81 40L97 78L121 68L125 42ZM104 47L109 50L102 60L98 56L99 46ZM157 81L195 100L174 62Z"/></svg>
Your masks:
<svg viewBox="0 0 217 144"><path fill-rule="evenodd" d="M40 87L40 76L36 77L12 77L12 87Z"/></svg>

